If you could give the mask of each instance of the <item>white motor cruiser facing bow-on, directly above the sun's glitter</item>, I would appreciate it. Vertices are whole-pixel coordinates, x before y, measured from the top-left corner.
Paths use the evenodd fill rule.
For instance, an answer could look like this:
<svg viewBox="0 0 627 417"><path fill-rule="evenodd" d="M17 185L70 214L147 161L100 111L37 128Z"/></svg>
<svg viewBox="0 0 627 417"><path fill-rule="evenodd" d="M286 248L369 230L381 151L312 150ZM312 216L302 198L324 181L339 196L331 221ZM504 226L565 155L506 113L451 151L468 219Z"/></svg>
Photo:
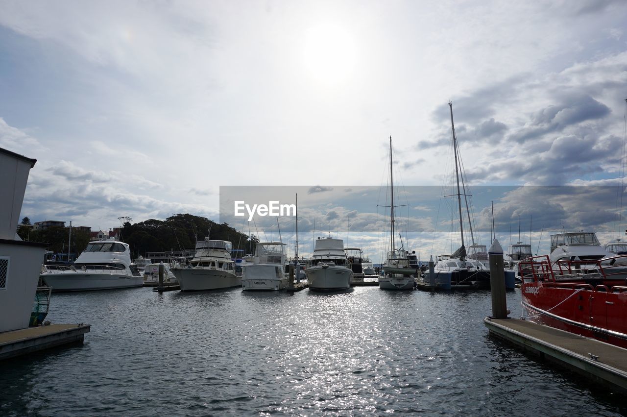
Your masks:
<svg viewBox="0 0 627 417"><path fill-rule="evenodd" d="M344 241L327 236L315 241L314 255L305 268L310 290L334 291L350 288L353 272L344 252Z"/></svg>

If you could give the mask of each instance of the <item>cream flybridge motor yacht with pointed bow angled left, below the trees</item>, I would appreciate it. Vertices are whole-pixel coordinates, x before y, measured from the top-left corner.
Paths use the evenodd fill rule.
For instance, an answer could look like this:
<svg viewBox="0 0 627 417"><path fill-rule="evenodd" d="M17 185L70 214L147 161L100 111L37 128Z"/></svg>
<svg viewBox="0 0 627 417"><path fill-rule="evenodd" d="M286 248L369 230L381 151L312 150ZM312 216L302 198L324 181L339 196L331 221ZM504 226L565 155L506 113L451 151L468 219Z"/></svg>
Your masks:
<svg viewBox="0 0 627 417"><path fill-rule="evenodd" d="M218 290L241 286L231 259L231 242L204 240L196 242L194 258L187 267L172 268L181 291Z"/></svg>

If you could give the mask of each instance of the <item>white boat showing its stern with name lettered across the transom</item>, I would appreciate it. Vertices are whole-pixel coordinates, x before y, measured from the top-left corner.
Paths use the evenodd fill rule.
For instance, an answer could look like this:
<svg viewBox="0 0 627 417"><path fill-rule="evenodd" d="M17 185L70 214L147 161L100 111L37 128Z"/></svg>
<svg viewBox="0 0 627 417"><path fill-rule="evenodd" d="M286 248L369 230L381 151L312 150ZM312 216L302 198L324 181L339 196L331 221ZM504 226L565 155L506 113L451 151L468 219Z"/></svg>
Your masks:
<svg viewBox="0 0 627 417"><path fill-rule="evenodd" d="M255 245L255 261L244 267L241 288L245 291L278 291L287 287L285 243L261 242Z"/></svg>

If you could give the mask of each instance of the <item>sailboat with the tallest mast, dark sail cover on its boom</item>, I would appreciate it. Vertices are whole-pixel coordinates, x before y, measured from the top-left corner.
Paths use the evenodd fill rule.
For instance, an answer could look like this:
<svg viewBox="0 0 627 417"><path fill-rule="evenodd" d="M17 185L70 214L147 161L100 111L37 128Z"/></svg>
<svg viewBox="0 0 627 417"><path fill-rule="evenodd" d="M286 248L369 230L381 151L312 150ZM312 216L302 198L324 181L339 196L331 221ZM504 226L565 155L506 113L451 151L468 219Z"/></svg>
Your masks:
<svg viewBox="0 0 627 417"><path fill-rule="evenodd" d="M451 111L451 130L453 132L453 153L455 156L455 178L457 184L457 193L453 194L457 196L457 204L460 218L460 237L461 246L458 250L447 259L438 260L435 265L436 273L450 273L451 280L450 285L453 288L490 288L490 270L480 259L472 259L466 256L466 246L464 245L464 230L463 230L463 218L461 215L461 196L466 197L466 193L460 191L460 172L458 162L458 144L455 136L455 124L453 123L453 103L448 103ZM466 212L468 213L468 223L470 224L470 211L468 210L468 201L466 201ZM472 233L472 224L470 224L470 230ZM474 236L472 236L473 244L472 255L483 255L483 245L475 245ZM485 248L485 246L483 246ZM480 256L473 256L480 258Z"/></svg>

